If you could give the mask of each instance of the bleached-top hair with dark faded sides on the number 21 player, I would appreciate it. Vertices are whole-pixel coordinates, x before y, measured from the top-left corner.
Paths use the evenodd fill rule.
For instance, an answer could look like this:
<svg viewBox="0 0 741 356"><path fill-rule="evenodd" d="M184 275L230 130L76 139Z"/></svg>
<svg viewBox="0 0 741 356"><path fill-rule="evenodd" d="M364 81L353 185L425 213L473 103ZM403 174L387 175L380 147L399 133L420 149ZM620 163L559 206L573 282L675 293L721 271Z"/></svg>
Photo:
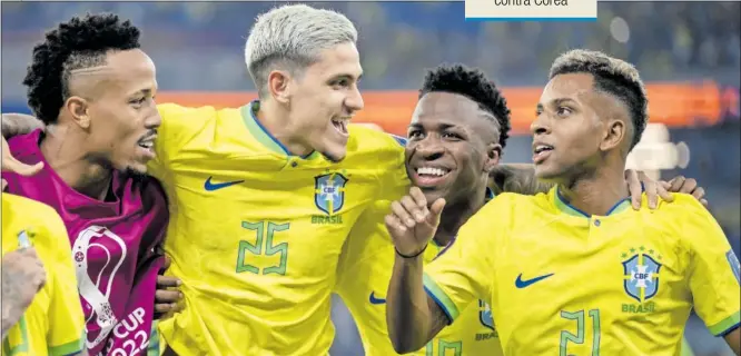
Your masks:
<svg viewBox="0 0 741 356"><path fill-rule="evenodd" d="M633 122L630 146L630 149L633 149L641 140L649 121L649 98L635 67L600 51L575 49L553 61L549 79L569 73L591 73L596 90L607 92L628 106Z"/></svg>

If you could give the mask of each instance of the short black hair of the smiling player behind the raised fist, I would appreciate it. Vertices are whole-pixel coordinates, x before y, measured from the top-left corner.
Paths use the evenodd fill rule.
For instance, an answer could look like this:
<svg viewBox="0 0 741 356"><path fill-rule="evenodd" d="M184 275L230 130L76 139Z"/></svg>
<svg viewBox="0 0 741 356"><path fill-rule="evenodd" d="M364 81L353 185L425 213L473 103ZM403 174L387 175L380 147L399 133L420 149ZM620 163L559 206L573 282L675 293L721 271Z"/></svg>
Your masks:
<svg viewBox="0 0 741 356"><path fill-rule="evenodd" d="M500 145L506 145L510 137L510 108L496 85L483 71L463 65L441 65L425 76L419 89L419 99L428 92L451 92L464 96L494 116L500 128Z"/></svg>

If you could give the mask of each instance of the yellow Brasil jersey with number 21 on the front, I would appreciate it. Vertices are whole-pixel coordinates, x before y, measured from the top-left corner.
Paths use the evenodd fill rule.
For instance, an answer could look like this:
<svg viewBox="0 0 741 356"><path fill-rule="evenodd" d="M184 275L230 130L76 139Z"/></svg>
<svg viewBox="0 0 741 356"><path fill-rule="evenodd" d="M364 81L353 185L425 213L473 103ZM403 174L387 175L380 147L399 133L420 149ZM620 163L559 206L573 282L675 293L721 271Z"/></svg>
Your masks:
<svg viewBox="0 0 741 356"><path fill-rule="evenodd" d="M453 319L488 299L506 355L680 355L692 307L723 335L741 301L720 226L693 197L674 197L587 217L555 188L503 194L429 264L425 288Z"/></svg>

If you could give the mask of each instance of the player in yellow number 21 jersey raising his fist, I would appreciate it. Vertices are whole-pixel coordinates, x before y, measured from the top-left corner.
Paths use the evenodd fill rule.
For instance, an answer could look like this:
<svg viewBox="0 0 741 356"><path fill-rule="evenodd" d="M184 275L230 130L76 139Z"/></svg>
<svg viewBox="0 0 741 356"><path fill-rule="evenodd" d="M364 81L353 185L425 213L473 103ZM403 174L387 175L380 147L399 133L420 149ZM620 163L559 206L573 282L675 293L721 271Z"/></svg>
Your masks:
<svg viewBox="0 0 741 356"><path fill-rule="evenodd" d="M718 222L683 194L628 208L623 170L648 121L638 70L573 50L549 79L531 126L549 194L497 196L424 273L445 200L413 191L386 217L395 348L419 348L484 299L505 355L679 355L692 308L739 355L739 260Z"/></svg>

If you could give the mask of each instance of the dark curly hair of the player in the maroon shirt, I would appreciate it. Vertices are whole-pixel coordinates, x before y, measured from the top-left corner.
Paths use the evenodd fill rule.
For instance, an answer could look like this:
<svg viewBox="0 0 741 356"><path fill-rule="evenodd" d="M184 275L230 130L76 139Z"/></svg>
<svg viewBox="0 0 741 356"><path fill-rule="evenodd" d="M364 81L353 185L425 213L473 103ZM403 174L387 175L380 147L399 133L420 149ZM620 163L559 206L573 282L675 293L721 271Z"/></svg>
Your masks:
<svg viewBox="0 0 741 356"><path fill-rule="evenodd" d="M112 13L88 13L59 23L46 33L43 42L33 47L33 59L23 79L28 106L43 123L56 122L70 96L70 71L105 65L110 50L136 48L139 29Z"/></svg>

